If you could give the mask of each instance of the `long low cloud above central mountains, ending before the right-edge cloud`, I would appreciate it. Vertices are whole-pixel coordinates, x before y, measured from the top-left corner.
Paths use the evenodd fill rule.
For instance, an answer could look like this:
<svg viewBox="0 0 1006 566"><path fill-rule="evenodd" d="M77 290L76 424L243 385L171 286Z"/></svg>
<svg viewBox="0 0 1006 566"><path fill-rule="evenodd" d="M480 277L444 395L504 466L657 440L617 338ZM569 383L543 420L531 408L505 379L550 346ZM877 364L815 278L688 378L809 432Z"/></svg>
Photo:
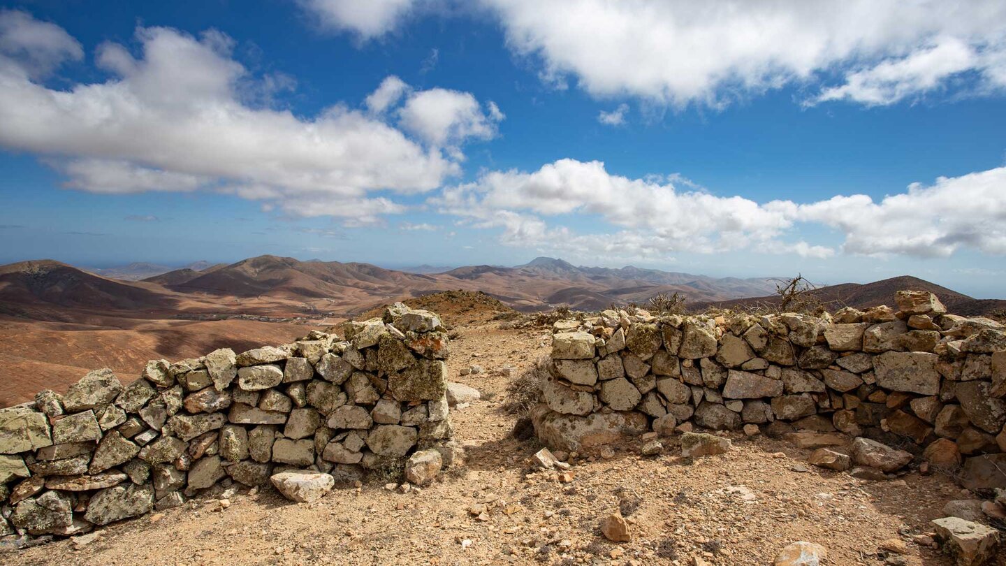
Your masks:
<svg viewBox="0 0 1006 566"><path fill-rule="evenodd" d="M778 239L793 221L773 203L740 196L680 191L674 184L610 174L600 161L560 159L534 172L492 171L473 183L448 187L432 199L441 210L470 219L477 228L502 228L514 246L572 246L580 252L650 257L687 250L714 253L756 248L811 257L833 252ZM622 228L614 235L577 235L549 228L542 217L597 218Z"/></svg>

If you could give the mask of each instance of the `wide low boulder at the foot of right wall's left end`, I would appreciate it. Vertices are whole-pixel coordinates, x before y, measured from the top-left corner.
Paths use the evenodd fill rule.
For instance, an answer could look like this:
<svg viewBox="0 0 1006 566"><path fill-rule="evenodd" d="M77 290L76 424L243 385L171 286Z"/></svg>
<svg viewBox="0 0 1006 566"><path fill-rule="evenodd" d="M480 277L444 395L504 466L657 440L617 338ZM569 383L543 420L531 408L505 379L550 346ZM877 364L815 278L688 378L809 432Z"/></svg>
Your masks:
<svg viewBox="0 0 1006 566"><path fill-rule="evenodd" d="M531 411L535 435L552 450L590 451L647 431L646 415L635 411L564 415L538 405ZM371 435L372 436L372 435Z"/></svg>

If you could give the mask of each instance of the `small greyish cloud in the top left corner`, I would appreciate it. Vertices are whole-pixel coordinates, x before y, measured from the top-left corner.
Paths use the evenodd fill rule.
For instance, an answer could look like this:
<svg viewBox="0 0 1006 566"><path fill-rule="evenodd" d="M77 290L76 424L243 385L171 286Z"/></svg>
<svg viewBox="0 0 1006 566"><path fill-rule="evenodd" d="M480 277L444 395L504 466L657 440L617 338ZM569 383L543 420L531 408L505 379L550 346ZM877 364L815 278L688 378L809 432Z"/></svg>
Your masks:
<svg viewBox="0 0 1006 566"><path fill-rule="evenodd" d="M58 25L20 10L0 10L0 55L20 61L32 79L41 79L65 60L83 58L83 49Z"/></svg>

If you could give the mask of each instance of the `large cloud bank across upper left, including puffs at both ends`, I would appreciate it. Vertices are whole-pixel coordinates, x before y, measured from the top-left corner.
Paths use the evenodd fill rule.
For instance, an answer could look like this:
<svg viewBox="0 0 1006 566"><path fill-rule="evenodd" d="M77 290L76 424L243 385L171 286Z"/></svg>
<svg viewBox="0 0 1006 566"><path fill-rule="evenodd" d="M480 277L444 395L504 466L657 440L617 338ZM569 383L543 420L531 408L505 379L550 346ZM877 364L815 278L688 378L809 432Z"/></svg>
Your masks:
<svg viewBox="0 0 1006 566"><path fill-rule="evenodd" d="M473 96L437 89L409 101L450 93L455 103L418 104L408 121L414 134L344 104L313 117L254 106L248 92L261 92L262 81L232 57L226 35L151 27L136 38L139 56L117 43L99 48L108 81L54 90L36 77L60 57L79 58L79 45L53 24L0 14L0 146L41 156L70 188L214 190L290 215L363 225L403 211L394 194L429 191L458 174L460 145L493 131ZM401 85L382 83L368 108L395 104ZM442 144L450 145L447 154Z"/></svg>

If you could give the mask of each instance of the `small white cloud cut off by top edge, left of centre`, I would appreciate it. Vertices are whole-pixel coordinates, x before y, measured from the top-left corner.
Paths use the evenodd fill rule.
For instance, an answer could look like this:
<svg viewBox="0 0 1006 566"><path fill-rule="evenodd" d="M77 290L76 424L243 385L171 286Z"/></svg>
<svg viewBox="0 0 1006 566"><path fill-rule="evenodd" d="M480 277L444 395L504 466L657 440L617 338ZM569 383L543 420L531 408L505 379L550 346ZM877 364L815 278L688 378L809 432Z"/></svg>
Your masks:
<svg viewBox="0 0 1006 566"><path fill-rule="evenodd" d="M391 31L418 2L416 0L300 0L301 5L340 31L357 33L363 39Z"/></svg>

